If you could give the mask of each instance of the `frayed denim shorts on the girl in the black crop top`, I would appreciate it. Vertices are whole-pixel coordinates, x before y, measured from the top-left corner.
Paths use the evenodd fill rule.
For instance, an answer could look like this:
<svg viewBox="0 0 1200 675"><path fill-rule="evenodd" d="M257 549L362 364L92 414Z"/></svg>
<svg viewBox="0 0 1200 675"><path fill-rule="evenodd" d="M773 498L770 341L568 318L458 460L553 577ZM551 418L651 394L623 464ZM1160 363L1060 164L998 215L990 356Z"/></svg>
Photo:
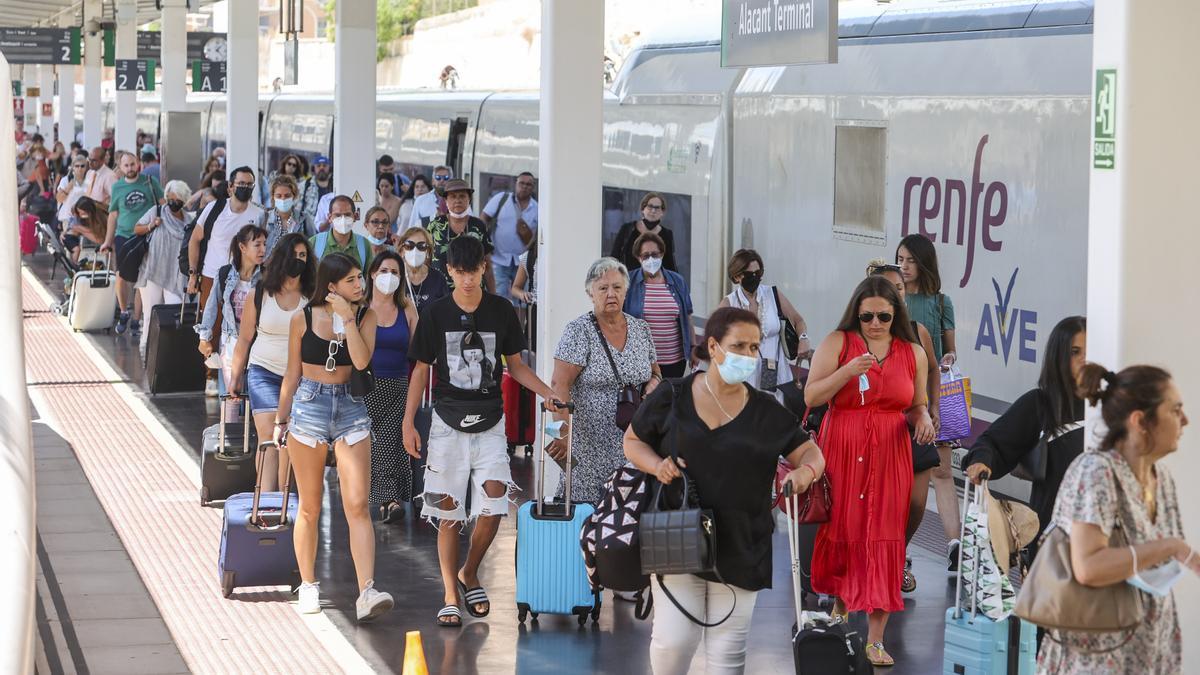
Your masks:
<svg viewBox="0 0 1200 675"><path fill-rule="evenodd" d="M354 444L371 436L371 416L362 396L352 396L349 384L322 384L300 378L292 398L288 434L305 446Z"/></svg>

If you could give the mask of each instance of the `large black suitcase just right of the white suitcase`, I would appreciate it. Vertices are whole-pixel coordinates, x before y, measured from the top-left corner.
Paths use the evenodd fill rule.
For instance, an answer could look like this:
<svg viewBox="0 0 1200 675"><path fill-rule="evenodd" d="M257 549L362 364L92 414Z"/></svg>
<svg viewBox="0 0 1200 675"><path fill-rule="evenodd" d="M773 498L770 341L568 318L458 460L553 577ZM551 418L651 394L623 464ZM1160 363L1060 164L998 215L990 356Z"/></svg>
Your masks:
<svg viewBox="0 0 1200 675"><path fill-rule="evenodd" d="M156 305L146 335L146 382L151 394L203 392L208 369L193 330L200 319L197 303Z"/></svg>

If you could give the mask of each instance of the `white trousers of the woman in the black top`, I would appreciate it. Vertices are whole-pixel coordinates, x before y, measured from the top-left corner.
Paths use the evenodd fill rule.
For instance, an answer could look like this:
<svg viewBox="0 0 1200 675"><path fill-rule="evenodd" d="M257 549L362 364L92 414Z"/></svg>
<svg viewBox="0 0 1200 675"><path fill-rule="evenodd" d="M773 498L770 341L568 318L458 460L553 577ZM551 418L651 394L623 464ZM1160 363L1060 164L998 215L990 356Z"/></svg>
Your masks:
<svg viewBox="0 0 1200 675"><path fill-rule="evenodd" d="M654 675L685 675L691 670L691 658L704 640L708 675L740 675L746 667L746 635L758 591L706 581L692 574L670 574L662 578L671 595L692 616L714 623L737 607L727 621L704 628L684 616L662 592L656 577L650 578L654 593L654 628L650 634L650 669ZM730 590L732 589L732 591Z"/></svg>

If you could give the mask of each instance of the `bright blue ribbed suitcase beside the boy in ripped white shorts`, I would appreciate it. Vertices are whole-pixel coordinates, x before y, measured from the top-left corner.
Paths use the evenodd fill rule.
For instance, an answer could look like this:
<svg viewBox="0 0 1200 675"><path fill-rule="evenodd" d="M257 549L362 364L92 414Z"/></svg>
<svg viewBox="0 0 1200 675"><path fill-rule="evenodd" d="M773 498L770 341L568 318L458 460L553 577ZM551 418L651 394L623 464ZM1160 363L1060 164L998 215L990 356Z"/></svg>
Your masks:
<svg viewBox="0 0 1200 675"><path fill-rule="evenodd" d="M575 406L568 404L570 413ZM540 406L539 420L541 476L546 466L546 406ZM574 422L574 420L572 420ZM524 623L530 614L566 614L578 617L580 626L600 620L600 593L593 592L580 550L580 531L595 512L592 504L571 503L571 430L566 434L566 494L563 500L545 503L544 479L534 485L534 498L517 509L517 619Z"/></svg>

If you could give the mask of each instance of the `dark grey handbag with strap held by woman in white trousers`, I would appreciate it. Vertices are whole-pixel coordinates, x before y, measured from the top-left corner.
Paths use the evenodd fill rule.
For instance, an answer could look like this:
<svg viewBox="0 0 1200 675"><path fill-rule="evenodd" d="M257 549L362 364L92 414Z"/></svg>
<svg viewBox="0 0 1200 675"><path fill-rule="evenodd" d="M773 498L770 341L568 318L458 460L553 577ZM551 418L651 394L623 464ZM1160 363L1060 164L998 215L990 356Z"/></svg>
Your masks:
<svg viewBox="0 0 1200 675"><path fill-rule="evenodd" d="M676 383L671 384L676 394L671 410L678 405L679 389ZM678 462L679 449L679 416L674 414L676 426L673 442L671 444L671 460ZM649 507L638 518L637 537L641 543L642 574L654 574L659 580L659 587L684 616L692 623L712 628L720 626L733 616L737 608L737 593L721 579L720 571L716 569L716 521L710 509L701 508L700 495L692 489L688 480L688 473L680 471L683 476L683 500L677 509L664 508L662 483L659 482L654 489L654 498ZM706 623L691 615L679 601L667 589L662 578L664 574L702 574L713 573L718 581L725 584L733 593L733 604L725 619L713 623Z"/></svg>

